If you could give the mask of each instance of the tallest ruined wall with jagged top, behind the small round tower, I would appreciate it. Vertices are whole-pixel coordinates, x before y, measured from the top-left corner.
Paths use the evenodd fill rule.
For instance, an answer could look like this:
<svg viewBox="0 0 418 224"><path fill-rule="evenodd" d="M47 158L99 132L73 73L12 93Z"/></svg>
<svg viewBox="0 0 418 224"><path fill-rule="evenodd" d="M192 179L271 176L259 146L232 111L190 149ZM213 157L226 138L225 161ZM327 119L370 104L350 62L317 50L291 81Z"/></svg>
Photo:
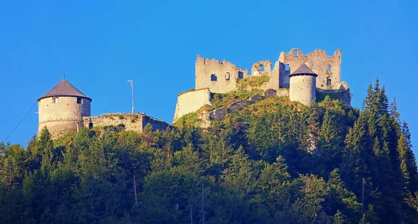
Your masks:
<svg viewBox="0 0 418 224"><path fill-rule="evenodd" d="M336 50L333 56L327 56L324 50L316 49L304 55L300 49L293 48L286 54L283 51L279 56L281 88L286 88L289 83L288 75L294 72L302 63L318 74L316 78L316 88L319 89L339 89L341 88L341 49ZM289 70L286 70L286 64ZM327 85L330 79L330 85ZM329 84L329 83L328 83Z"/></svg>

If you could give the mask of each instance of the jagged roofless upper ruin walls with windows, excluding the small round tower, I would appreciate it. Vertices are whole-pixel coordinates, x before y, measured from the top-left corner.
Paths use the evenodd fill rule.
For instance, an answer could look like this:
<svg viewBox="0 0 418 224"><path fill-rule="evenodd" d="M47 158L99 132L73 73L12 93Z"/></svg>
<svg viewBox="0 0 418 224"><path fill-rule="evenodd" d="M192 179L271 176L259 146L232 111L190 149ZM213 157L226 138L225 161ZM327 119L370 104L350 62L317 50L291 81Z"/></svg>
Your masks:
<svg viewBox="0 0 418 224"><path fill-rule="evenodd" d="M279 59L272 66L270 60L258 61L251 66L251 76L265 75L270 80L263 83L263 90L289 88L289 75L303 63L318 74L316 88L323 90L347 89L347 83L340 81L341 49L334 55L327 56L324 50L303 54L300 49L293 48L289 53L281 52ZM196 89L209 88L210 93L228 93L235 90L239 79L249 77L247 70L238 68L229 61L205 59L200 55L196 59Z"/></svg>

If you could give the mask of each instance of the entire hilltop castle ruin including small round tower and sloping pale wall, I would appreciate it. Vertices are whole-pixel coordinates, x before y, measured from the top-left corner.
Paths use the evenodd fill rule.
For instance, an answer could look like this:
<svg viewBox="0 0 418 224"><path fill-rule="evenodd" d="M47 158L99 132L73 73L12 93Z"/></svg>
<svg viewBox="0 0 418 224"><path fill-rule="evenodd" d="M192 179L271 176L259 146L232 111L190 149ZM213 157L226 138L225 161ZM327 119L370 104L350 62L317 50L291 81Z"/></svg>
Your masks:
<svg viewBox="0 0 418 224"><path fill-rule="evenodd" d="M178 95L173 122L187 113L196 112L201 106L211 106L210 93L229 93L237 89L241 79L261 76L268 77L268 81L256 88L274 90L277 95L288 95L292 101L305 106L309 106L318 93L339 93L341 101L350 104L350 89L345 81L340 81L341 49L327 56L320 49L303 54L300 49L293 48L288 53L282 51L274 65L270 60L257 61L251 66L250 73L229 61L198 55L195 90Z"/></svg>

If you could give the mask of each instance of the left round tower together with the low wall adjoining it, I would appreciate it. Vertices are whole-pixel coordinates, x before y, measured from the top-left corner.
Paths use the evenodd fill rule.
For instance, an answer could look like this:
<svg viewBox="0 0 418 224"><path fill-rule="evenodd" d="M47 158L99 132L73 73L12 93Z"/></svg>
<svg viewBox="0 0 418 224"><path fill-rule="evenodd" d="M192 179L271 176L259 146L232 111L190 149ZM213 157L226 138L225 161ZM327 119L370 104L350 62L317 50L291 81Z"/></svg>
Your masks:
<svg viewBox="0 0 418 224"><path fill-rule="evenodd" d="M142 132L148 124L153 129L165 129L166 122L145 113L109 113L91 117L91 98L63 79L48 93L38 99L38 136L47 127L53 139L77 132L82 127L114 126L126 131Z"/></svg>

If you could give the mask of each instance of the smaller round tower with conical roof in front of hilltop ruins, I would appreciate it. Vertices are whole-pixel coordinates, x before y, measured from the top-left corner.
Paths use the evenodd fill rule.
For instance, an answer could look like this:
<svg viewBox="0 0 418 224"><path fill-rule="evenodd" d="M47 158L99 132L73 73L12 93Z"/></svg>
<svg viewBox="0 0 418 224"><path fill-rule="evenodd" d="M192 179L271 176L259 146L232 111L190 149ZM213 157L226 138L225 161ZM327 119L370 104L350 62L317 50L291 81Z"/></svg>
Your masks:
<svg viewBox="0 0 418 224"><path fill-rule="evenodd" d="M305 63L290 74L289 98L291 101L309 106L316 97L316 77L318 75L312 72Z"/></svg>

